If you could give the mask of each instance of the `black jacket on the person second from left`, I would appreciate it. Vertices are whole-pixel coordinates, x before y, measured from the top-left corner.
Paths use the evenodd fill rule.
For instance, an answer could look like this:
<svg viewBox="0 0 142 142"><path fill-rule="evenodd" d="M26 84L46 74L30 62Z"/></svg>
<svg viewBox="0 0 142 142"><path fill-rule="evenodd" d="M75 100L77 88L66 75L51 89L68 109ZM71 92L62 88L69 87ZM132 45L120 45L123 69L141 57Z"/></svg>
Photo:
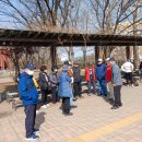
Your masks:
<svg viewBox="0 0 142 142"><path fill-rule="evenodd" d="M46 72L40 72L39 73L39 86L42 90L48 90L48 76L47 76L47 73Z"/></svg>

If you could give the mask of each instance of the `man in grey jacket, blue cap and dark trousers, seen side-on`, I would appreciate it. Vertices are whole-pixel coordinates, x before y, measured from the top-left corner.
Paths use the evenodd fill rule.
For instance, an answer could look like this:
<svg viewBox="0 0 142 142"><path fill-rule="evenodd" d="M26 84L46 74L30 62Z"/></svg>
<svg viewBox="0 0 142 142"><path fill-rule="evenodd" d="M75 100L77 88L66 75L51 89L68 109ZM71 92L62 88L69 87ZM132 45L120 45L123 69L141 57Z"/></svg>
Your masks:
<svg viewBox="0 0 142 142"><path fill-rule="evenodd" d="M115 95L115 102L111 109L117 109L122 106L121 103L121 85L122 85L122 79L121 79L121 71L118 67L118 64L115 61L115 58L109 59L111 70L113 70L113 76L111 82L114 86L114 95Z"/></svg>

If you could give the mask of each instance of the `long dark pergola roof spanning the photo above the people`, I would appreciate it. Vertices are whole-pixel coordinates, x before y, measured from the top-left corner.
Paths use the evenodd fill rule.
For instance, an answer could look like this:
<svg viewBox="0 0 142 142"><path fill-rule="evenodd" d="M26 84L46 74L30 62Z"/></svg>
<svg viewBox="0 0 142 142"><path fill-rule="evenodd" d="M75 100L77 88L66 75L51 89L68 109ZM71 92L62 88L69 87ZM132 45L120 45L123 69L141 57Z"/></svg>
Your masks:
<svg viewBox="0 0 142 142"><path fill-rule="evenodd" d="M0 28L0 46L142 46L141 36L71 34Z"/></svg>

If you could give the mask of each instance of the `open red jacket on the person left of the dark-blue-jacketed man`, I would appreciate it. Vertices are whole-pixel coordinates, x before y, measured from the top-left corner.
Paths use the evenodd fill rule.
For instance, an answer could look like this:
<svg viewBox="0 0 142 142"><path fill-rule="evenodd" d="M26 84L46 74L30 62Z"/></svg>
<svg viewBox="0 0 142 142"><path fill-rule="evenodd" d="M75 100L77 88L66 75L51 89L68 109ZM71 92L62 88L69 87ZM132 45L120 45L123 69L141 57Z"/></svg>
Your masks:
<svg viewBox="0 0 142 142"><path fill-rule="evenodd" d="M93 79L96 82L96 70L95 68L92 68L92 74L93 74ZM90 81L90 68L85 69L85 81L88 82Z"/></svg>

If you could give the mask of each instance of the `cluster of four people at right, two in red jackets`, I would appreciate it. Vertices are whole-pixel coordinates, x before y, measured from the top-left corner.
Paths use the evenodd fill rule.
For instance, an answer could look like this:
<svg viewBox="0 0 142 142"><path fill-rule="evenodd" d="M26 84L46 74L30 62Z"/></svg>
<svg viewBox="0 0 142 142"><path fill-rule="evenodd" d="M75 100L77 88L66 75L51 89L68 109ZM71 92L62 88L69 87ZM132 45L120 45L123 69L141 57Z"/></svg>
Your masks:
<svg viewBox="0 0 142 142"><path fill-rule="evenodd" d="M113 104L111 109L117 109L121 104L121 71L116 64L114 58L107 58L104 62L103 59L97 60L95 67L92 62L85 69L85 81L87 82L87 95L92 93L91 86L93 86L93 94L103 96L106 100ZM96 90L98 86L98 91Z"/></svg>

